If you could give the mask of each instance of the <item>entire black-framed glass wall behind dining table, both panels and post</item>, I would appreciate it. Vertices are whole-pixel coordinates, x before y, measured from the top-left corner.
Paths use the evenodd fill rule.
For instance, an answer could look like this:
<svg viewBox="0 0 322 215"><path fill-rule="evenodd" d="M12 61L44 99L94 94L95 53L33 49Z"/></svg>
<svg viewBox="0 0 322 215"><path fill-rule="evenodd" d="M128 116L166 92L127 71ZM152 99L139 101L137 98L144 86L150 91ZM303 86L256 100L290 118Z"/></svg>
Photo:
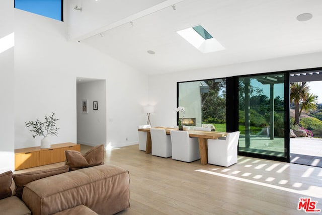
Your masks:
<svg viewBox="0 0 322 215"><path fill-rule="evenodd" d="M177 90L186 110L177 117L190 129L239 130L238 155L290 161L287 72L180 82Z"/></svg>

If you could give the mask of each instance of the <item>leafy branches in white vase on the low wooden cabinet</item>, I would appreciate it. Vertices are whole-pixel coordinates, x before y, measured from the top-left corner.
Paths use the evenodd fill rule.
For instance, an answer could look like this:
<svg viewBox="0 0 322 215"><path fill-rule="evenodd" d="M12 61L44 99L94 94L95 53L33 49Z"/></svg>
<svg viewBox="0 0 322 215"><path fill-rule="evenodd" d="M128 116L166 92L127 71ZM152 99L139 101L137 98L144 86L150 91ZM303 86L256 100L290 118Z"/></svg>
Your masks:
<svg viewBox="0 0 322 215"><path fill-rule="evenodd" d="M55 113L52 113L51 116L45 116L44 122L40 122L38 118L36 119L36 121L25 122L25 125L27 127L32 127L32 129L29 130L35 132L35 134L32 135L32 137L35 138L36 136L43 136L43 138L40 141L41 149L50 148L49 139L47 138L49 134L52 136L57 136L58 134L57 130L59 128L56 127L56 121L58 119L56 119L54 116Z"/></svg>

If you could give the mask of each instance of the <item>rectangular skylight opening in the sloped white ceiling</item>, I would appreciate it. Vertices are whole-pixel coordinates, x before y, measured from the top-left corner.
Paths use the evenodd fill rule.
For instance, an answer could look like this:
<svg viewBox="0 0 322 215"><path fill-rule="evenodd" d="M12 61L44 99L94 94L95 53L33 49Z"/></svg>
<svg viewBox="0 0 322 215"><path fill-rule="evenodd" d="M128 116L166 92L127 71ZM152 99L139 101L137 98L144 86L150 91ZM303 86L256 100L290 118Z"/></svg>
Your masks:
<svg viewBox="0 0 322 215"><path fill-rule="evenodd" d="M177 33L202 53L221 51L225 49L201 25L177 31Z"/></svg>

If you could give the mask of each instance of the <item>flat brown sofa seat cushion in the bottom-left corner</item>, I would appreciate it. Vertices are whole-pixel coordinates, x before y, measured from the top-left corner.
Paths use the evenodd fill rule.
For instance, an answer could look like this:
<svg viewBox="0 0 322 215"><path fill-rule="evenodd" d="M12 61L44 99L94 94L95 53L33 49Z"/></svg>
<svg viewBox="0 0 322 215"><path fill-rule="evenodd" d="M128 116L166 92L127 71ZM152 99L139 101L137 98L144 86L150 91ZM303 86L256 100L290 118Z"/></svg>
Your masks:
<svg viewBox="0 0 322 215"><path fill-rule="evenodd" d="M11 196L0 200L0 209L2 215L22 215L31 214L26 204L17 196Z"/></svg>

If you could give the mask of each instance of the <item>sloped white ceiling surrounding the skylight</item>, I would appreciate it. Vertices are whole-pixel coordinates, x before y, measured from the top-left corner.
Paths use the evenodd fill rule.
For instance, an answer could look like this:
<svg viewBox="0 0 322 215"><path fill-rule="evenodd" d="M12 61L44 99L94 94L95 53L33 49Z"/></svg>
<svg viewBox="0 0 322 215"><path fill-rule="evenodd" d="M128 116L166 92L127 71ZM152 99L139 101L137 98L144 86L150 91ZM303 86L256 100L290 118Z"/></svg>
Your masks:
<svg viewBox="0 0 322 215"><path fill-rule="evenodd" d="M75 1L77 0L73 0L72 4ZM99 1L104 0L97 2ZM113 8L115 14L121 13L127 8L127 4L120 7L117 5L119 1L104 1L104 7ZM97 2L92 0L93 4ZM131 1L132 4L146 2ZM160 6L161 3L163 5L154 7L149 12L146 7L141 7L142 13L129 10L118 20L114 18L113 22L105 26L83 33L83 37L79 37L82 38L81 42L149 75L322 51L321 0L153 2L155 6ZM176 10L171 5L174 2ZM100 8L103 8L102 5ZM137 8L139 7L136 10ZM90 13L104 11L96 12L93 7L91 10ZM77 16L82 16L84 12L85 5L83 12ZM69 13L79 11L69 9ZM296 17L302 13L311 13L313 18L299 22ZM131 19L133 25L129 22ZM95 26L95 19L89 20L83 24ZM176 33L198 24L215 37L225 50L201 53ZM103 33L99 34L100 31ZM147 50L153 50L155 54L148 54Z"/></svg>

